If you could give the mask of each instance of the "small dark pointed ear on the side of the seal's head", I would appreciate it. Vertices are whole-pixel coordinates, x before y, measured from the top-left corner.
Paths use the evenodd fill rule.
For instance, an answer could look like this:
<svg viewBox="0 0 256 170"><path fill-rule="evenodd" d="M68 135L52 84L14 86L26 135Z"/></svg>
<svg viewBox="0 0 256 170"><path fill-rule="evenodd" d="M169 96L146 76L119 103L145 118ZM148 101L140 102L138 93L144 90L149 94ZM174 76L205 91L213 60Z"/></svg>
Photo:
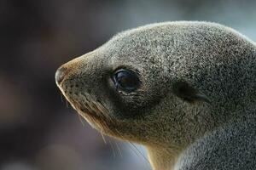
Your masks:
<svg viewBox="0 0 256 170"><path fill-rule="evenodd" d="M208 99L205 94L201 94L198 89L190 86L188 82L175 82L172 89L173 93L176 94L177 97L189 103L204 101L211 104L210 99Z"/></svg>

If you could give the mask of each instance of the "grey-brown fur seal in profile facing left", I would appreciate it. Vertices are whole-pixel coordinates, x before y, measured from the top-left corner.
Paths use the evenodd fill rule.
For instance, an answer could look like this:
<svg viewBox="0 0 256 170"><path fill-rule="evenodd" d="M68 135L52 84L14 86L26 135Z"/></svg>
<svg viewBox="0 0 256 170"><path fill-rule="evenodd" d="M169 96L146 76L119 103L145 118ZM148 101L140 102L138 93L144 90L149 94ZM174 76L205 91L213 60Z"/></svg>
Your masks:
<svg viewBox="0 0 256 170"><path fill-rule="evenodd" d="M245 132L247 142L226 151L245 149L234 153L249 152L256 167L255 150L245 146L256 144L247 126L256 122L255 71L256 45L247 37L215 23L176 21L123 31L61 65L55 80L92 127L143 144L154 170L196 169L194 156L214 169L225 161L221 148ZM230 161L225 169L241 166Z"/></svg>

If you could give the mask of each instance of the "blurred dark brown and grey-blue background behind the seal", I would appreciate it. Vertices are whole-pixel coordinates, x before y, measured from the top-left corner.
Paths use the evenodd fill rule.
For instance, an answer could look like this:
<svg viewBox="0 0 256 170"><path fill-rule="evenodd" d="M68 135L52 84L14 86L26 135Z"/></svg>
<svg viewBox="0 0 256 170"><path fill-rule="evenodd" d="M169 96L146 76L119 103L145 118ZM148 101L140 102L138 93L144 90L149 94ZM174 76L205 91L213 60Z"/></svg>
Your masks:
<svg viewBox="0 0 256 170"><path fill-rule="evenodd" d="M215 21L256 40L253 0L0 0L0 169L149 170L143 147L105 144L79 119L55 70L118 31L172 20Z"/></svg>

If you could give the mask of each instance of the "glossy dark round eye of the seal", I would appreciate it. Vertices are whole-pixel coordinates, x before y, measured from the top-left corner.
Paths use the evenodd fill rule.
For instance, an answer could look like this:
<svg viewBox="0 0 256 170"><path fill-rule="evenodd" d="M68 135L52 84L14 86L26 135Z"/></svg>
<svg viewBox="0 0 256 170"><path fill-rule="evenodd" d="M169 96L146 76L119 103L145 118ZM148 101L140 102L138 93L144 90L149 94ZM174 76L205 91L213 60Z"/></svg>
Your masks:
<svg viewBox="0 0 256 170"><path fill-rule="evenodd" d="M135 72L120 69L113 74L113 83L119 90L130 93L139 87L140 80Z"/></svg>

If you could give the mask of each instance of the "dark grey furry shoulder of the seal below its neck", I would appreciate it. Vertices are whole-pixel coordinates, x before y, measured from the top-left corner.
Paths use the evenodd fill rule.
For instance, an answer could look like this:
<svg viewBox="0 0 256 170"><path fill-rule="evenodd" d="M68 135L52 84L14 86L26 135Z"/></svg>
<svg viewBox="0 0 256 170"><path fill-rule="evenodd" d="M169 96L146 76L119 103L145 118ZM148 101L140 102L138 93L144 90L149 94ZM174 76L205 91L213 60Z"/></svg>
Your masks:
<svg viewBox="0 0 256 170"><path fill-rule="evenodd" d="M255 114L255 111L254 111ZM190 145L175 170L254 169L256 167L256 116L219 127Z"/></svg>

